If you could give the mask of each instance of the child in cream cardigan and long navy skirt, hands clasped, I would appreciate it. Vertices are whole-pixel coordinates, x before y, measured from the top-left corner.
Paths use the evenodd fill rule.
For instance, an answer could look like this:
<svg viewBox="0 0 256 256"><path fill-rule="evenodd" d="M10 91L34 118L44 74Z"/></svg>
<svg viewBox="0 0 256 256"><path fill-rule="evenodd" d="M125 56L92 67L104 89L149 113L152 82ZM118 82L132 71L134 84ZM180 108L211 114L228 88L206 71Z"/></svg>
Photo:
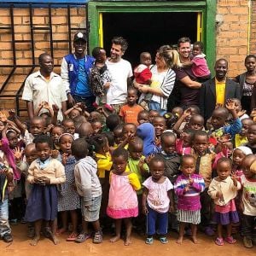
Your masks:
<svg viewBox="0 0 256 256"><path fill-rule="evenodd" d="M53 142L47 135L35 138L34 143L38 151L38 159L34 160L28 169L27 182L33 184L31 195L26 205L25 218L35 222L35 237L31 241L36 246L40 239L42 220L51 221L50 236L57 244L57 211L58 197L56 184L65 183L64 166L50 157Z"/></svg>

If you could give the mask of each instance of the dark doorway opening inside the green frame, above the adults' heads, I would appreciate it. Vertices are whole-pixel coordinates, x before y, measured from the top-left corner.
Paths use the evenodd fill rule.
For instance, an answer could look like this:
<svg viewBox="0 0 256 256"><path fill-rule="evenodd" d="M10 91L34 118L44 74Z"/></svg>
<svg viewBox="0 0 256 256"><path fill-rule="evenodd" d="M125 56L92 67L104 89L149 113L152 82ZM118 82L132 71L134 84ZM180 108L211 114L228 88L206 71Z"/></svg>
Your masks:
<svg viewBox="0 0 256 256"><path fill-rule="evenodd" d="M103 13L103 44L109 50L111 39L121 36L128 41L124 58L135 67L139 55L148 51L154 55L163 44L177 44L177 39L189 37L196 41L197 13Z"/></svg>

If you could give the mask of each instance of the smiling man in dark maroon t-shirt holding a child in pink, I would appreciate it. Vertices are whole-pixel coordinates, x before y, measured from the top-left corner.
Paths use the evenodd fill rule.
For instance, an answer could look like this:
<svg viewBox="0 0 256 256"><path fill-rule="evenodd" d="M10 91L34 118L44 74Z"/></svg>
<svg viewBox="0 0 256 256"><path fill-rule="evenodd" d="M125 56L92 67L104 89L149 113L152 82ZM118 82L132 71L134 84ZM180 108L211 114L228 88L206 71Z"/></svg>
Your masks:
<svg viewBox="0 0 256 256"><path fill-rule="evenodd" d="M177 51L180 61L183 64L190 62L191 41L189 38L180 38L177 41ZM195 75L192 73L191 66L173 68L176 73L176 84L172 90L172 106L177 103L182 108L187 108L189 105L199 104L199 88L201 84L196 82ZM180 101L177 102L177 97Z"/></svg>

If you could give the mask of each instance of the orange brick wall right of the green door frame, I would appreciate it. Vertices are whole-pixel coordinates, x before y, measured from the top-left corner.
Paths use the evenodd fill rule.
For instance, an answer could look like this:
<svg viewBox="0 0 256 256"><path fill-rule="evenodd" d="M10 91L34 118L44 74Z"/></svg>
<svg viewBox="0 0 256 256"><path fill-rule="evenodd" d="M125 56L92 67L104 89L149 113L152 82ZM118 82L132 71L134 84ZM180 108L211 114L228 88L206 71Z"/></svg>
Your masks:
<svg viewBox="0 0 256 256"><path fill-rule="evenodd" d="M248 1L218 0L216 20L216 57L229 61L229 76L234 77L245 70L243 63L248 44Z"/></svg>

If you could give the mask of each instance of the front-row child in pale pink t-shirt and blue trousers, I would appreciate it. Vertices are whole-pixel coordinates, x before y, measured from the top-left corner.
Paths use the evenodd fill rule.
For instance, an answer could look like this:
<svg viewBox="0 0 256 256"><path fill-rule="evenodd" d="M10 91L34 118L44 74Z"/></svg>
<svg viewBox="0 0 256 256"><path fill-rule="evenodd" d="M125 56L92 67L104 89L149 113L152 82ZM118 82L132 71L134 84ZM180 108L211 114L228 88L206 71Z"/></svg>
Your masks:
<svg viewBox="0 0 256 256"><path fill-rule="evenodd" d="M147 215L147 244L153 243L157 230L160 242L167 243L168 212L173 210L170 180L164 176L164 160L154 157L149 163L152 177L143 182L143 213ZM157 229L156 229L157 226Z"/></svg>

